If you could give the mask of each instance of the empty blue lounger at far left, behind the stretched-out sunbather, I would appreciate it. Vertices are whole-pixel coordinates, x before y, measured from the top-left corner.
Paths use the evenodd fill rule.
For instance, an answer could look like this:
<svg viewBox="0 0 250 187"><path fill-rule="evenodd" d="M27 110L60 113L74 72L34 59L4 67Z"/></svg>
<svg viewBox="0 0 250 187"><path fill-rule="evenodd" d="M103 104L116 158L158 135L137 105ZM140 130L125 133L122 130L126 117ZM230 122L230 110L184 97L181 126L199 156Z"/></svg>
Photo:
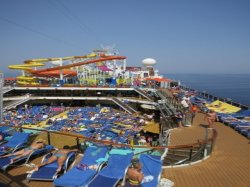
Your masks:
<svg viewBox="0 0 250 187"><path fill-rule="evenodd" d="M27 144L29 136L29 133L14 133L7 143L4 143L0 146L0 156L23 148Z"/></svg>

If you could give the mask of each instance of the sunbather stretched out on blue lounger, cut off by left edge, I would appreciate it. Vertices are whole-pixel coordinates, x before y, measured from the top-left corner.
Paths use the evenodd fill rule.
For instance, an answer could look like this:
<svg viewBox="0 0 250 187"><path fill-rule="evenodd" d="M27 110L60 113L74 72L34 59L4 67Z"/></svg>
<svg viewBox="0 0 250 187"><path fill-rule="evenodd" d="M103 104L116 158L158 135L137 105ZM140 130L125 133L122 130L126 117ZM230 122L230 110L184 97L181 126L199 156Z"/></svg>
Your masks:
<svg viewBox="0 0 250 187"><path fill-rule="evenodd" d="M45 140L38 139L38 140L34 141L29 147L26 147L20 151L14 152L14 153L0 156L0 158L5 158L5 157L9 157L9 156L16 156L15 158L12 158L10 160L10 164L12 164L15 160L17 160L21 157L25 157L25 156L29 155L30 153L32 153L34 150L41 149L44 146L45 146Z"/></svg>

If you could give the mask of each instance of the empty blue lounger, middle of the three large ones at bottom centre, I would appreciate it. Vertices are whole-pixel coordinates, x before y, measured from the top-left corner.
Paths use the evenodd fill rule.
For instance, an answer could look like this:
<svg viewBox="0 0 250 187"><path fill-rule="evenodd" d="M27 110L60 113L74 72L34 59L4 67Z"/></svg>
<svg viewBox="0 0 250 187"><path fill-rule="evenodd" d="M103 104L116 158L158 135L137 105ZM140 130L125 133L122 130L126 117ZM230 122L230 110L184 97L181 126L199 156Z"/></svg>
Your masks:
<svg viewBox="0 0 250 187"><path fill-rule="evenodd" d="M132 152L128 154L110 154L107 166L103 168L87 186L116 186L126 174L126 171L131 164L132 158Z"/></svg>

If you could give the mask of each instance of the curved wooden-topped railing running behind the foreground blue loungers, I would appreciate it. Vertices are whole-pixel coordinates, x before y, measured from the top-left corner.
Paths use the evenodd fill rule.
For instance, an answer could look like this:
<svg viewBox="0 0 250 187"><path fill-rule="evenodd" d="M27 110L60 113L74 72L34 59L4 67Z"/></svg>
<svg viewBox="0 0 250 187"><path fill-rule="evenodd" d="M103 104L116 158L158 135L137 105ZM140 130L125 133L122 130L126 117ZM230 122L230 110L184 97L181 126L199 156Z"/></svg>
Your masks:
<svg viewBox="0 0 250 187"><path fill-rule="evenodd" d="M0 126L7 126L7 125L0 125ZM215 129L208 129L205 128L206 135L205 138L202 140L197 140L196 143L193 144L185 144L185 145L171 145L171 146L148 146L148 145L129 145L129 144L120 144L120 143L114 143L110 140L96 140L93 138L85 137L81 134L74 134L74 133L68 133L68 132L57 132L57 131L49 131L45 129L37 129L37 128L25 128L25 127L10 127L16 129L16 131L23 131L23 130L32 130L36 132L40 132L38 134L34 135L41 135L44 138L47 138L47 143L52 144L54 146L58 146L57 144L66 144L66 141L64 142L56 142L53 139L52 142L52 136L66 136L69 138L73 138L71 141L71 146L77 147L80 150L82 149L82 145L84 142L92 142L95 144L102 144L102 145L107 145L107 146L112 146L112 147L127 147L131 149L139 149L143 148L146 152L154 152L158 151L160 153L163 153L166 149L168 149L168 153L166 157L163 160L163 166L174 166L174 165L181 165L181 164L187 164L191 163L194 161L202 160L206 158L208 155L212 153L215 140L217 137L217 132ZM208 131L211 130L212 135L211 137L208 137ZM56 139L57 140L57 139ZM69 142L67 142L68 144ZM173 151L180 151L180 150L186 150L186 157L183 159L179 159L176 162L173 162L172 164L167 163L168 156L170 152ZM145 152L142 151L141 153ZM173 154L171 153L172 156L178 156L178 154Z"/></svg>

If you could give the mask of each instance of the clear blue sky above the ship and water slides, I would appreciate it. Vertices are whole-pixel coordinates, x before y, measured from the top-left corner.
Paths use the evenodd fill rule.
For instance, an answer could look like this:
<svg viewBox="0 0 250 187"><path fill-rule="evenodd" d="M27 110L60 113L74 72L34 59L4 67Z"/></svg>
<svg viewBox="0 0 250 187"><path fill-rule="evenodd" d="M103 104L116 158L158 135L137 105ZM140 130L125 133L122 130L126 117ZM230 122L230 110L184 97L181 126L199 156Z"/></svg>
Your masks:
<svg viewBox="0 0 250 187"><path fill-rule="evenodd" d="M163 73L250 73L249 0L1 0L0 71L115 45Z"/></svg>

